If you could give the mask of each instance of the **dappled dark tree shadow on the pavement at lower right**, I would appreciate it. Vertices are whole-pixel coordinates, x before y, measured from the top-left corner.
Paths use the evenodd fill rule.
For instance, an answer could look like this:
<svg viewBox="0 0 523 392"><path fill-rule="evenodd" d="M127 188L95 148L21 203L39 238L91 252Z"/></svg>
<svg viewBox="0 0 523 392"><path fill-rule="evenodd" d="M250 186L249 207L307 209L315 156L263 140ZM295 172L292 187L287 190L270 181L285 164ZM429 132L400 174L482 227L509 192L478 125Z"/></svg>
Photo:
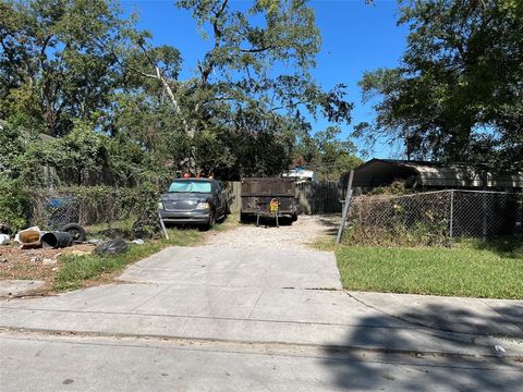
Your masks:
<svg viewBox="0 0 523 392"><path fill-rule="evenodd" d="M336 388L346 391L516 391L523 381L523 363L497 357L494 345L499 344L499 335L523 336L523 330L518 331L513 320L506 317L521 317L523 304L498 310L486 317L442 305L394 315L372 311L372 316L363 317L351 328L345 346L384 350L341 353L326 348L323 364L332 375ZM394 320L399 328L391 327ZM429 354L430 343L419 341L419 332L430 342L447 347L450 344L461 352L482 345L491 355L479 358ZM437 352L437 344L433 348ZM403 353L399 354L400 351Z"/></svg>

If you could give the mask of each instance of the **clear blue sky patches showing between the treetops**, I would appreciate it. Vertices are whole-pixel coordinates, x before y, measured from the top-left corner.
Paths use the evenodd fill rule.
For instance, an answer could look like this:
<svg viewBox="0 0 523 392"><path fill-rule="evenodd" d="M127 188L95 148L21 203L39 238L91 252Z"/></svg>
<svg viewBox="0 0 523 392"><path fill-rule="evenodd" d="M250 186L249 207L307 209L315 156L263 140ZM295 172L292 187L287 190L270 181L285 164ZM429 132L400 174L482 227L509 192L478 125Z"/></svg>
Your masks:
<svg viewBox="0 0 523 392"><path fill-rule="evenodd" d="M250 3L231 2L234 8ZM210 44L202 39L188 12L177 9L173 0L127 0L122 1L122 5L125 12L137 12L138 26L153 33L156 45L172 45L181 51L184 59L182 77L193 75L197 60ZM354 124L373 119L372 108L361 101L357 82L366 70L398 64L405 47L406 28L396 24L397 3L393 0L378 0L374 5L366 5L365 0L316 0L309 5L316 12L323 39L313 75L327 89L337 83L345 84L349 100L355 105L352 124L342 126L342 136L348 137ZM327 121L319 119L313 122L313 130L319 131L327 125ZM385 158L397 150L381 143L373 156Z"/></svg>

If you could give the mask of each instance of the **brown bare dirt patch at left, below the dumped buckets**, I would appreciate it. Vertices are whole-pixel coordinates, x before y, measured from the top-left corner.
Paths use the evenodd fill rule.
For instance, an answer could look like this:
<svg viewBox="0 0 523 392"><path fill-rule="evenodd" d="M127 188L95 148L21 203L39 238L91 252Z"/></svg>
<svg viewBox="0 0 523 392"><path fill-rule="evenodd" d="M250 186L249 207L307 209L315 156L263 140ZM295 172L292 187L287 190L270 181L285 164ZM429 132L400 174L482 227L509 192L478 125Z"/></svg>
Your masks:
<svg viewBox="0 0 523 392"><path fill-rule="evenodd" d="M0 246L0 279L41 280L46 284L40 291L47 291L60 270L60 255L90 253L94 248L88 244L62 249L21 249L17 245L3 245Z"/></svg>

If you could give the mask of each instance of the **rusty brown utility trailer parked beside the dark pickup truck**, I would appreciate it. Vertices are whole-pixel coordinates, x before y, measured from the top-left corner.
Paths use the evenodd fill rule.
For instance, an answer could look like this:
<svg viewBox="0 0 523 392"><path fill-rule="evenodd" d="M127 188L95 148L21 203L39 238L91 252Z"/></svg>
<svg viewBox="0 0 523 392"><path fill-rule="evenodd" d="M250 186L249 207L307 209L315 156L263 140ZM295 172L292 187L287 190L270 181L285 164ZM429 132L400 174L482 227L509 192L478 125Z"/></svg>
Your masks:
<svg viewBox="0 0 523 392"><path fill-rule="evenodd" d="M256 217L256 224L259 218L273 218L277 224L281 217L297 220L294 179L243 179L241 198L242 221L248 217Z"/></svg>

